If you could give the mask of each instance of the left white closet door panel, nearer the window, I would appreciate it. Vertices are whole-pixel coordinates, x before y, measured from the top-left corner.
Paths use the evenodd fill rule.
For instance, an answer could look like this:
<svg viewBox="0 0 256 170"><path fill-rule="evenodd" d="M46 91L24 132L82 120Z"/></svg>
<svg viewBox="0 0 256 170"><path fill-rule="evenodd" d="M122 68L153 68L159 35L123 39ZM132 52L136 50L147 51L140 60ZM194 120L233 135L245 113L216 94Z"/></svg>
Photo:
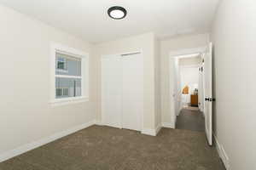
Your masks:
<svg viewBox="0 0 256 170"><path fill-rule="evenodd" d="M121 127L122 67L121 57L102 57L102 123Z"/></svg>

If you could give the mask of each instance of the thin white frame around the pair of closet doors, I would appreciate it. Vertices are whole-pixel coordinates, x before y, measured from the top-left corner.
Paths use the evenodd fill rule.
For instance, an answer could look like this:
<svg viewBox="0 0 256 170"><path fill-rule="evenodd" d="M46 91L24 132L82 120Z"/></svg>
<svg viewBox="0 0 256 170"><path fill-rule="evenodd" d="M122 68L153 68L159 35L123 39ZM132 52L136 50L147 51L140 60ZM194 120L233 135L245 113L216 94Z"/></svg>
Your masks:
<svg viewBox="0 0 256 170"><path fill-rule="evenodd" d="M134 51L126 51L124 53L102 54L101 55L101 66L100 66L100 68L101 68L101 71L100 71L100 73L101 73L101 93L100 93L101 94L101 123L100 124L102 124L102 125L105 125L105 122L103 120L104 115L103 115L103 111L102 111L102 59L106 58L108 56L113 56L113 55L117 55L117 56L121 57L124 54L141 54L142 57L143 57L143 50L139 49L139 50L134 50ZM145 72L144 72L144 57L143 57L143 75L145 75ZM143 78L143 87L144 87L144 83L145 82L144 82L144 78ZM143 90L143 103L144 103L144 90ZM120 126L119 126L119 128L123 128L123 116L121 115L121 113L120 113L119 117L120 117ZM140 122L141 122L141 128L140 128L139 132L143 132L143 127L144 127L144 104L143 104L143 112L140 114Z"/></svg>

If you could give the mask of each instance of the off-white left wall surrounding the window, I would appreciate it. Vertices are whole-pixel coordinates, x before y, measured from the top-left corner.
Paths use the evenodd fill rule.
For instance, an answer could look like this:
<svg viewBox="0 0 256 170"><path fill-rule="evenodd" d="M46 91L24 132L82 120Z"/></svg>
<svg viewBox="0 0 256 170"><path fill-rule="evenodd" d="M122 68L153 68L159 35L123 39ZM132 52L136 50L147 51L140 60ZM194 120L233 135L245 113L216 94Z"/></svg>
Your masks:
<svg viewBox="0 0 256 170"><path fill-rule="evenodd" d="M24 14L0 6L0 154L95 119L92 46ZM50 42L90 54L90 100L49 104Z"/></svg>

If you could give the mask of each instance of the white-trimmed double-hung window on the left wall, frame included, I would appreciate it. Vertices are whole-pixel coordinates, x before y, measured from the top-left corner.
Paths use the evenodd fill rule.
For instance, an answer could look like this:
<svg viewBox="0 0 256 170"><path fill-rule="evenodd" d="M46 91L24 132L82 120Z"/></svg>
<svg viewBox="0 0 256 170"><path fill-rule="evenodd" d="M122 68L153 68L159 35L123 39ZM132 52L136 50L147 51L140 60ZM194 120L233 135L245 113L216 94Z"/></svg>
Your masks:
<svg viewBox="0 0 256 170"><path fill-rule="evenodd" d="M73 48L53 45L51 102L88 98L88 58Z"/></svg>

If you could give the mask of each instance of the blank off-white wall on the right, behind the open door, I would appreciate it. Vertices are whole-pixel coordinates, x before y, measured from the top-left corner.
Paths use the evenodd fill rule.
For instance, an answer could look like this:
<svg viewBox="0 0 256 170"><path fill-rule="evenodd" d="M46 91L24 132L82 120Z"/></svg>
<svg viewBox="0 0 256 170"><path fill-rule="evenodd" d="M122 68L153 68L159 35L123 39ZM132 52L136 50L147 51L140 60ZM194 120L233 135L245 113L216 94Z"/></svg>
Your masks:
<svg viewBox="0 0 256 170"><path fill-rule="evenodd" d="M256 169L256 1L222 0L212 26L214 133L230 169Z"/></svg>

